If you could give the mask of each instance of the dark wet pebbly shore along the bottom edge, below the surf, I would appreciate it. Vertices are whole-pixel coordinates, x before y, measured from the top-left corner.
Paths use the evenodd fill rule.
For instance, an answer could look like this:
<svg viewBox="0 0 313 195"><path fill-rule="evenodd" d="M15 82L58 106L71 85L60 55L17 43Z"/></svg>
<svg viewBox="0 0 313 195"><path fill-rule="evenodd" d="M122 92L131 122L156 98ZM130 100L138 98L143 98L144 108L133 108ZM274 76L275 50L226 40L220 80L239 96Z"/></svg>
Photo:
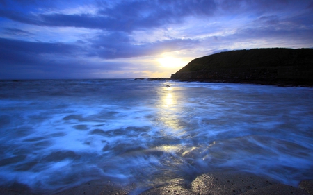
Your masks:
<svg viewBox="0 0 313 195"><path fill-rule="evenodd" d="M115 185L102 180L95 180L66 189L63 192L58 192L56 195L86 195L86 194L141 194L141 195L164 195L164 194L179 194L179 195L227 195L227 194L242 194L242 195L261 195L261 194L298 194L298 195L313 195L313 180L303 180L298 187L276 183L271 178L262 178L255 176L252 173L238 172L212 172L204 173L191 183L184 185L177 184L175 181L168 185L153 187L145 192L134 191L136 184L129 186ZM12 187L0 187L0 194L33 194L30 189L23 185L13 185ZM49 193L42 193L49 194Z"/></svg>

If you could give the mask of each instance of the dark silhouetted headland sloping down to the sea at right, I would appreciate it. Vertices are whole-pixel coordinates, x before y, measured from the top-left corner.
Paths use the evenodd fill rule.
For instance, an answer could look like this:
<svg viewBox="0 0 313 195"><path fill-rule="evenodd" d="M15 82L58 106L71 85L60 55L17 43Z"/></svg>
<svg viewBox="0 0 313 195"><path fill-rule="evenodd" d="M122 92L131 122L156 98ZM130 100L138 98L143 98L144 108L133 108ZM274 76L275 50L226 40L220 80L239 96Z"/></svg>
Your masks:
<svg viewBox="0 0 313 195"><path fill-rule="evenodd" d="M171 79L313 86L313 49L250 49L196 58Z"/></svg>

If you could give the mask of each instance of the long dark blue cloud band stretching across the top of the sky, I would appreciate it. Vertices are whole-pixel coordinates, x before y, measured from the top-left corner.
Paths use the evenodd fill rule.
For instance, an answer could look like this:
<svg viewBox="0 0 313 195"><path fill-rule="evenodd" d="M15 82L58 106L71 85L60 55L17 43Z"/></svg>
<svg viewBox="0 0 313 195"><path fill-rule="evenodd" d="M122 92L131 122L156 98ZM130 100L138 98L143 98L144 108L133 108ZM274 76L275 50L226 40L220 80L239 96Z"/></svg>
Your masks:
<svg viewBox="0 0 313 195"><path fill-rule="evenodd" d="M310 9L312 2L300 0ZM98 12L92 14L33 14L0 10L0 16L26 24L38 26L68 26L102 29L106 31L131 32L147 28L158 28L167 24L184 22L184 18L211 17L219 14L241 14L251 12L262 15L273 10L286 10L293 6L288 0L154 0L154 1L120 1L118 3L103 3L98 1ZM219 10L219 11L218 11Z"/></svg>

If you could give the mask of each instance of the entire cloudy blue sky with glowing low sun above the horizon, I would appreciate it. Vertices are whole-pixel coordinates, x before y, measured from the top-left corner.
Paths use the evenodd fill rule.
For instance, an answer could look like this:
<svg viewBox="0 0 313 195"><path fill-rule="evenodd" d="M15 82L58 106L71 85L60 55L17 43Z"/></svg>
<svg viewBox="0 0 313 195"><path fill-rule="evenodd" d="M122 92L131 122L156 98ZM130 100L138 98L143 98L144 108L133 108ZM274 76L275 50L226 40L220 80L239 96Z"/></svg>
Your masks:
<svg viewBox="0 0 313 195"><path fill-rule="evenodd" d="M271 47L313 48L313 0L0 0L0 79L170 77Z"/></svg>

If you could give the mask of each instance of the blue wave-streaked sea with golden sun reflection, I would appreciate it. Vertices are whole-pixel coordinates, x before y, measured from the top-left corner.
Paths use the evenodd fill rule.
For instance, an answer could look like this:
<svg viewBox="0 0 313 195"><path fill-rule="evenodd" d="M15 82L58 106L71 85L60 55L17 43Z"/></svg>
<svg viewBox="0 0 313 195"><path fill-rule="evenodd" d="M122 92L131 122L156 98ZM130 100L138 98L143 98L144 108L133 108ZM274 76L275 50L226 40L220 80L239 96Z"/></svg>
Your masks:
<svg viewBox="0 0 313 195"><path fill-rule="evenodd" d="M170 87L166 87L170 85ZM155 185L232 169L313 176L313 89L118 80L0 81L0 185Z"/></svg>

